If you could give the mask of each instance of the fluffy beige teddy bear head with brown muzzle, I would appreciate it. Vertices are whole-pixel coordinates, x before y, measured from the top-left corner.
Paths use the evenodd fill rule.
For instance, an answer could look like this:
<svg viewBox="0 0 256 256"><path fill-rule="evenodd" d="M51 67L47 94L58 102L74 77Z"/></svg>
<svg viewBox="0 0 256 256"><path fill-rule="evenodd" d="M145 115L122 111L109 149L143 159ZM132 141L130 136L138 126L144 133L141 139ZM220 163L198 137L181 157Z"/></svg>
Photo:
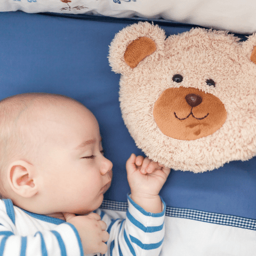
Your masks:
<svg viewBox="0 0 256 256"><path fill-rule="evenodd" d="M122 116L136 145L175 170L204 172L256 154L256 35L195 28L166 38L148 22L116 34Z"/></svg>

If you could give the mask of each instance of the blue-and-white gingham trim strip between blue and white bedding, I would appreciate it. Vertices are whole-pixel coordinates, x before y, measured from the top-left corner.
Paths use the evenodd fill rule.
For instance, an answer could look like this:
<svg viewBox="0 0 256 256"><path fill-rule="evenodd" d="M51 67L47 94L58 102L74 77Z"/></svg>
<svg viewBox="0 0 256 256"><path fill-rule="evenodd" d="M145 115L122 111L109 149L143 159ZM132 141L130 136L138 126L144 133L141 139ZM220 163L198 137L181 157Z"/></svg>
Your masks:
<svg viewBox="0 0 256 256"><path fill-rule="evenodd" d="M111 200L104 200L100 206L101 209L114 211L126 211L127 207L128 203L126 202L116 202ZM166 216L256 230L256 220L236 217L233 215L225 215L219 213L203 212L198 210L166 206Z"/></svg>

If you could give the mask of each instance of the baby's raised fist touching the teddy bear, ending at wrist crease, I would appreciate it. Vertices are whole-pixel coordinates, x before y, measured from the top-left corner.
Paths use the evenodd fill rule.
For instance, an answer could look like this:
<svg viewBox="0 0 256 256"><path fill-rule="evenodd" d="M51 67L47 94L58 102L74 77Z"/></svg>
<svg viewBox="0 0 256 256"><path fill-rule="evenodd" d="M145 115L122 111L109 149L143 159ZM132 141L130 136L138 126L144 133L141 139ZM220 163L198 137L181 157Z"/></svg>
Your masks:
<svg viewBox="0 0 256 256"><path fill-rule="evenodd" d="M170 168L134 154L127 160L126 170L133 198L145 199L158 196L170 173Z"/></svg>

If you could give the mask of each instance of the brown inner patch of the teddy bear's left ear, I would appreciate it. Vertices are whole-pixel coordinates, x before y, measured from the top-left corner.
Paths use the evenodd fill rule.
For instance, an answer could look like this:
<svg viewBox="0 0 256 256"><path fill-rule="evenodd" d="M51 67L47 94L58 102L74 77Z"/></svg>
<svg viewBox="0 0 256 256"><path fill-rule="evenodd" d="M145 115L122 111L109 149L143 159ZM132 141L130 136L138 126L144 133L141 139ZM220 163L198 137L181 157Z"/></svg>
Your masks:
<svg viewBox="0 0 256 256"><path fill-rule="evenodd" d="M124 61L131 68L138 66L140 61L156 51L155 42L148 37L139 37L132 41L124 53Z"/></svg>

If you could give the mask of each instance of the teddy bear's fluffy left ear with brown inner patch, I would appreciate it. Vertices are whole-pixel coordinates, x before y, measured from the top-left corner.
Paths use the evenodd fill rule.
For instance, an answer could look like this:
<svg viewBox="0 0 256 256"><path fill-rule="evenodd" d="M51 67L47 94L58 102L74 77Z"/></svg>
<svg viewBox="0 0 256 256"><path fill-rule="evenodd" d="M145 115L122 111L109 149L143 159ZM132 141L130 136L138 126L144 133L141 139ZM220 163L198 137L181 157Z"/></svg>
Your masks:
<svg viewBox="0 0 256 256"><path fill-rule="evenodd" d="M157 25L139 22L115 35L109 46L109 63L116 73L125 74L150 56L151 65L163 54L165 32Z"/></svg>

